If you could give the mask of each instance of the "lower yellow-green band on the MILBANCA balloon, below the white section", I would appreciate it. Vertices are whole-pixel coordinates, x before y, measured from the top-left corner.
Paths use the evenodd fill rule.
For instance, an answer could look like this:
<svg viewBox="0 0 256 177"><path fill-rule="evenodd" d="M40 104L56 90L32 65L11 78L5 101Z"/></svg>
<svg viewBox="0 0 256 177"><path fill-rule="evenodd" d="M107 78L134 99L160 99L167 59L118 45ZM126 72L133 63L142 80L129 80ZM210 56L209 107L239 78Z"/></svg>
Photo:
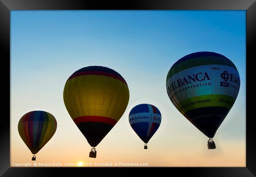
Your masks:
<svg viewBox="0 0 256 177"><path fill-rule="evenodd" d="M176 105L179 109L182 110L183 114L192 109L197 109L201 107L210 107L210 106L220 106L231 109L235 99L227 95L202 95L188 98L181 101Z"/></svg>

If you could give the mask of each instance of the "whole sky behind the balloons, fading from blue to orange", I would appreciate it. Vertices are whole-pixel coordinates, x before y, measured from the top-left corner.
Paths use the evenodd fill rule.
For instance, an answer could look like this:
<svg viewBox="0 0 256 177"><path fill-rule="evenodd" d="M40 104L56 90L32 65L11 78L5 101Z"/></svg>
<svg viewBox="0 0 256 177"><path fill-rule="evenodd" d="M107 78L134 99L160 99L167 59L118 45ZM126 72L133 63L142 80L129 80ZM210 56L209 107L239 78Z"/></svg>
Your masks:
<svg viewBox="0 0 256 177"><path fill-rule="evenodd" d="M241 10L11 11L11 164L32 162L17 126L26 112L43 110L55 116L58 127L36 162L245 167L245 15ZM241 78L213 150L176 110L165 87L171 66L199 51L228 57ZM96 159L88 157L91 147L63 102L67 78L91 65L117 71L130 90L127 109L96 147ZM141 103L155 105L162 114L147 150L128 121L130 110Z"/></svg>

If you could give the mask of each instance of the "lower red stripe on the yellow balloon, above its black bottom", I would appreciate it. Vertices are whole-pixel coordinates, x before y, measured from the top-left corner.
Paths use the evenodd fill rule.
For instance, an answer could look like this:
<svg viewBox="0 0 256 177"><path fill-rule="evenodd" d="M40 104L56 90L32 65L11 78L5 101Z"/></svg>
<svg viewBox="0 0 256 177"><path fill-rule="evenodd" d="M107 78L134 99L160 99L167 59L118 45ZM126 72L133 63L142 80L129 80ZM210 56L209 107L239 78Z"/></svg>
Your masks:
<svg viewBox="0 0 256 177"><path fill-rule="evenodd" d="M108 118L108 117L102 117L102 116L82 116L74 119L75 124L79 124L81 122L102 122L107 123L111 125L115 125L117 123L116 120Z"/></svg>

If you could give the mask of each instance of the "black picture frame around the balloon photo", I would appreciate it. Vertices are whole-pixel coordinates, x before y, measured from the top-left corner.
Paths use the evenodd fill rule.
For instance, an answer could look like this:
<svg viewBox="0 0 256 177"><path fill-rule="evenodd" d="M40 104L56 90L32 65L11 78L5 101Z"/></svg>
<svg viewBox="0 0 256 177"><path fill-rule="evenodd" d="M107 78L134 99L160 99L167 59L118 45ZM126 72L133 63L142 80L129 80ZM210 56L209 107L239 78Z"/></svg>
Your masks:
<svg viewBox="0 0 256 177"><path fill-rule="evenodd" d="M99 172L127 175L136 170L148 175L154 172L161 174L173 174L175 176L196 177L245 177L256 175L256 131L254 126L253 84L255 69L253 61L256 59L256 2L255 0L126 0L126 1L98 1L98 0L0 0L0 50L1 52L1 75L2 94L10 94L10 11L11 10L74 10L74 9L99 9L99 10L126 10L126 9L169 9L169 10L246 10L246 167L170 167L170 168L35 168L35 167L10 167L10 104L8 99L2 101L6 108L2 107L2 119L0 128L0 175L7 177L16 176L75 176L76 173L83 175ZM4 63L4 64L3 64ZM9 66L9 69L8 69ZM9 87L8 87L9 85ZM5 94L6 93L6 94ZM11 95L9 95L11 96Z"/></svg>

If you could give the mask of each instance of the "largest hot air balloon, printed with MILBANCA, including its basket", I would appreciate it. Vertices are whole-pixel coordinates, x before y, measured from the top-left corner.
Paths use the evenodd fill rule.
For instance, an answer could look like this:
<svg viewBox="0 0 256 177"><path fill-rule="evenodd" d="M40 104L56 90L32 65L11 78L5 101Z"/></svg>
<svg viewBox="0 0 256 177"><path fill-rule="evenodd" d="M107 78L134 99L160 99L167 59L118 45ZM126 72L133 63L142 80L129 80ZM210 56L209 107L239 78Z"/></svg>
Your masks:
<svg viewBox="0 0 256 177"><path fill-rule="evenodd" d="M234 105L240 89L236 66L215 52L196 52L179 59L166 78L167 94L174 106L215 149L213 136Z"/></svg>

